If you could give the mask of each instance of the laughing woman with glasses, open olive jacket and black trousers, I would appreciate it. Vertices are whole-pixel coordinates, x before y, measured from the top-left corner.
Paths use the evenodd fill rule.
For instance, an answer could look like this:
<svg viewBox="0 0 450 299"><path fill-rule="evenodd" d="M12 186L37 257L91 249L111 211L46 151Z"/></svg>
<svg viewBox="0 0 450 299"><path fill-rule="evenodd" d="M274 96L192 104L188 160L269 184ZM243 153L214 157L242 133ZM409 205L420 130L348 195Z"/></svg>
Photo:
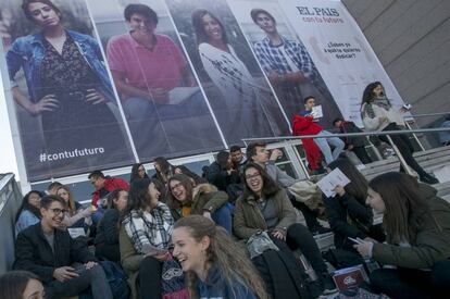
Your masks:
<svg viewBox="0 0 450 299"><path fill-rule="evenodd" d="M304 225L296 223L297 215L286 191L255 163L248 163L243 175L246 186L236 201L233 221L235 235L247 240L254 234L267 232L285 254L291 256L290 250L300 249L320 278L320 291L334 292L336 286L314 237Z"/></svg>

